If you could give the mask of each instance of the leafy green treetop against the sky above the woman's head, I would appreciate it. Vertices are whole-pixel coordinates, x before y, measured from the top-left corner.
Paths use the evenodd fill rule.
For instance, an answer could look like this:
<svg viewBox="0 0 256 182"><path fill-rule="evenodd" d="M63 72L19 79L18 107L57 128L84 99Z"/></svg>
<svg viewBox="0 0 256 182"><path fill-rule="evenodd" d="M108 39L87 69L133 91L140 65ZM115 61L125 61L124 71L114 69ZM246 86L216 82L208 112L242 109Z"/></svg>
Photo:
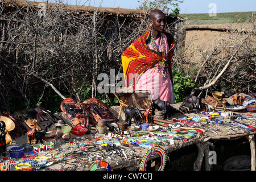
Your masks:
<svg viewBox="0 0 256 182"><path fill-rule="evenodd" d="M138 9L149 11L158 9L163 12L171 10L173 14L179 14L179 3L183 2L184 0L138 0L138 3L140 3Z"/></svg>

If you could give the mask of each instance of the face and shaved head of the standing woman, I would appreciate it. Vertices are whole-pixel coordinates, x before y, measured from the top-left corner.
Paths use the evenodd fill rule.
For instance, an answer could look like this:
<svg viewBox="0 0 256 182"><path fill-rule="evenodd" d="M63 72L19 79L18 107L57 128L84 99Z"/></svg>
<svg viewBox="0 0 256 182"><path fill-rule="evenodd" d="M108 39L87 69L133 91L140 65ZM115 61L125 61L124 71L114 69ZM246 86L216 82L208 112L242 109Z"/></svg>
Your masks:
<svg viewBox="0 0 256 182"><path fill-rule="evenodd" d="M152 15L151 23L153 24L152 26L154 30L163 32L166 27L166 16L161 12L154 13L154 15Z"/></svg>

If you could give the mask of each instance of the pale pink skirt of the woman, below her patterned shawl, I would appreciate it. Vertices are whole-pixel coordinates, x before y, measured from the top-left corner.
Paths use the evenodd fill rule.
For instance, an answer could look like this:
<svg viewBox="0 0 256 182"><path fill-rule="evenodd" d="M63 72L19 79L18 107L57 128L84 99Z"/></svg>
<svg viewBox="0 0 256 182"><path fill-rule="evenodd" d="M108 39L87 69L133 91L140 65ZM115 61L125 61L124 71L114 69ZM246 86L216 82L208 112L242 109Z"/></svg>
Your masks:
<svg viewBox="0 0 256 182"><path fill-rule="evenodd" d="M162 101L174 104L175 96L170 74L167 77L163 77L159 74L157 68L148 69L143 73L135 85L135 90L150 90L152 100L159 98Z"/></svg>

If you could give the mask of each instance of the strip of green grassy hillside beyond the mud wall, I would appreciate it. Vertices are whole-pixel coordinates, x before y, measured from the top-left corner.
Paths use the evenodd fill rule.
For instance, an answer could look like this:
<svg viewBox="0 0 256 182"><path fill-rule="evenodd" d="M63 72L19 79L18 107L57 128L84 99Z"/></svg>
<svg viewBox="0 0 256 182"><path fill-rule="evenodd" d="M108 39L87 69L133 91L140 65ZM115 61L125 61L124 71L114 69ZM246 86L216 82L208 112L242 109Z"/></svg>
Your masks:
<svg viewBox="0 0 256 182"><path fill-rule="evenodd" d="M179 16L183 18L187 18L187 23L189 24L252 22L252 15L253 15L253 11L217 13L217 16L209 16L208 13L179 14Z"/></svg>

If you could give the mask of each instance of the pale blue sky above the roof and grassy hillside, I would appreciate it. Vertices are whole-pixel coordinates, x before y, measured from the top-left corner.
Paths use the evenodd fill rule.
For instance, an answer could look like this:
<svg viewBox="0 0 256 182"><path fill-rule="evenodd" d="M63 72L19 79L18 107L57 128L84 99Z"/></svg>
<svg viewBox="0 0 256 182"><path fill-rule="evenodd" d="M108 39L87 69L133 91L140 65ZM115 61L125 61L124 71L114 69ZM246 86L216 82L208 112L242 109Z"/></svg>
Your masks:
<svg viewBox="0 0 256 182"><path fill-rule="evenodd" d="M41 2L43 1L46 0L41 0ZM101 7L136 9L139 5L138 0L63 0L64 3L67 2L72 5L90 5L97 7L100 5L101 1ZM211 7L209 7L210 3L216 5L217 13L256 10L256 0L184 0L184 2L180 4L180 13L209 13L211 9ZM172 9L172 7L170 8Z"/></svg>

